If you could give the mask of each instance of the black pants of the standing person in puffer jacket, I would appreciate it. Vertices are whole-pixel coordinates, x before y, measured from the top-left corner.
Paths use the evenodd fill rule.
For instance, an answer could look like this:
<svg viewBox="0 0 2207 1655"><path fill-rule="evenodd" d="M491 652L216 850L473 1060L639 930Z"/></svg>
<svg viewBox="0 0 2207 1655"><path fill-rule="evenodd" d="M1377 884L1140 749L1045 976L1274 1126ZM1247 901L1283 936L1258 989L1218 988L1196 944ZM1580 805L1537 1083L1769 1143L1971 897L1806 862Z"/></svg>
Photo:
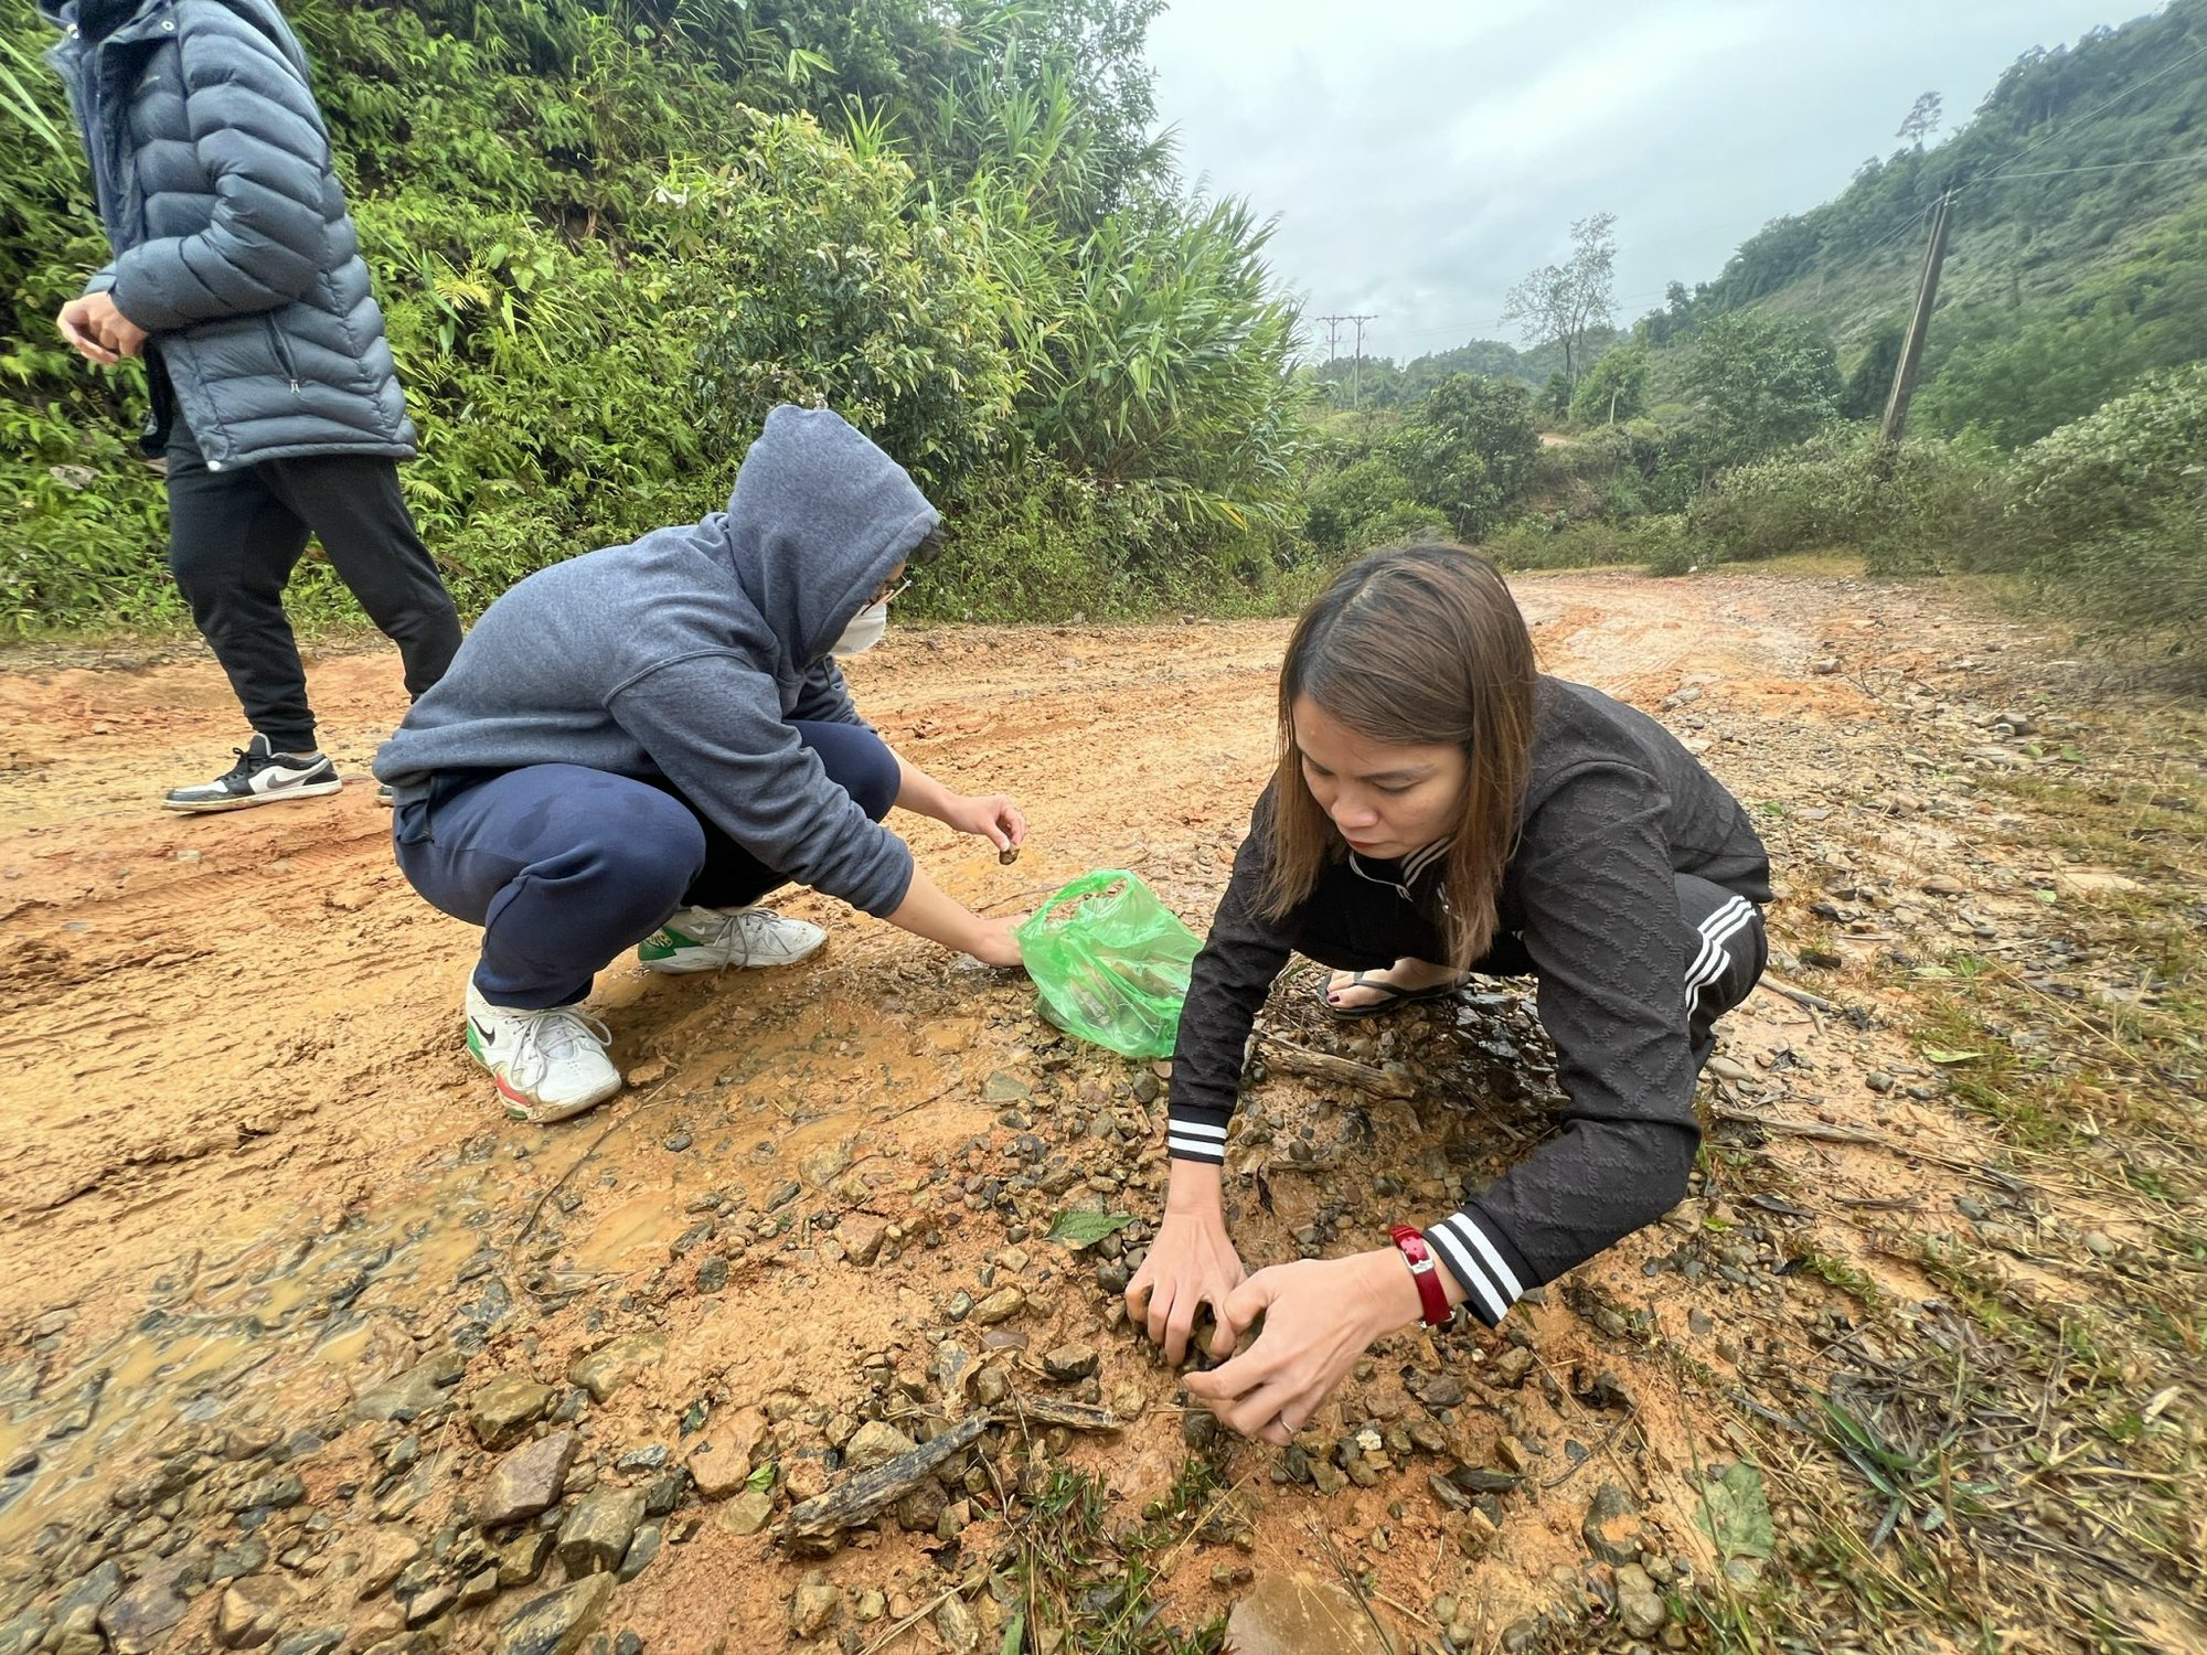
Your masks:
<svg viewBox="0 0 2207 1655"><path fill-rule="evenodd" d="M170 426L168 567L247 724L278 752L313 750L307 669L282 611L309 534L399 647L406 693L444 677L459 649L459 613L399 494L397 461L307 455L216 472L183 421Z"/></svg>

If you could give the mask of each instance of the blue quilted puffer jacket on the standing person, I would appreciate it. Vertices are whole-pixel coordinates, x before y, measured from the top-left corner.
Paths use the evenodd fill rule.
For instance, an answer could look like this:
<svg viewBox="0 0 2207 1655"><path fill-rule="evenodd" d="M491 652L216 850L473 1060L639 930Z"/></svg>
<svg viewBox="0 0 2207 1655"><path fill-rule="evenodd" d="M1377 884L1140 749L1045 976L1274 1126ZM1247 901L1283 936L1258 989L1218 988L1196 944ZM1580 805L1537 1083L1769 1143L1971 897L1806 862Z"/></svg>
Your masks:
<svg viewBox="0 0 2207 1655"><path fill-rule="evenodd" d="M271 0L40 0L115 263L210 470L415 450L307 57Z"/></svg>

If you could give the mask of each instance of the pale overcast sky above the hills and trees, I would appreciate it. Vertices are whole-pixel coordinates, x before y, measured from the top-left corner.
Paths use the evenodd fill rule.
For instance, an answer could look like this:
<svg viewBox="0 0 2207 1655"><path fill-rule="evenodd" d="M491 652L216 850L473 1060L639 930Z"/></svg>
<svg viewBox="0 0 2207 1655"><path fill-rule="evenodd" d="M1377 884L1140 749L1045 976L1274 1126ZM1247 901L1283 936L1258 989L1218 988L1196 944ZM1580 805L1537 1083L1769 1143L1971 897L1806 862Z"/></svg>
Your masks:
<svg viewBox="0 0 2207 1655"><path fill-rule="evenodd" d="M1618 214L1629 322L1898 148L1918 93L1951 128L2026 49L2154 9L1172 0L1150 62L1183 172L1278 218L1273 269L1307 316L1373 311L1364 349L1404 360L1510 338L1503 296L1596 212Z"/></svg>

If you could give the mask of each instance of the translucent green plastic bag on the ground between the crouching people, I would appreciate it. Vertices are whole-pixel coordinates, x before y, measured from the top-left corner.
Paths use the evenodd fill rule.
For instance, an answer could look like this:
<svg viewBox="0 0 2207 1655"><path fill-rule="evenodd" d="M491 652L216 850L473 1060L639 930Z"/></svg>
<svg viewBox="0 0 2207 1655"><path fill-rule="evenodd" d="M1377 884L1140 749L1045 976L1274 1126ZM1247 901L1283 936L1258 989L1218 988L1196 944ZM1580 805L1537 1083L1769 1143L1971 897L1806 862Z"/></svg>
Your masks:
<svg viewBox="0 0 2207 1655"><path fill-rule="evenodd" d="M1081 874L1020 927L1042 1015L1121 1057L1172 1057L1201 947L1156 891L1115 867Z"/></svg>

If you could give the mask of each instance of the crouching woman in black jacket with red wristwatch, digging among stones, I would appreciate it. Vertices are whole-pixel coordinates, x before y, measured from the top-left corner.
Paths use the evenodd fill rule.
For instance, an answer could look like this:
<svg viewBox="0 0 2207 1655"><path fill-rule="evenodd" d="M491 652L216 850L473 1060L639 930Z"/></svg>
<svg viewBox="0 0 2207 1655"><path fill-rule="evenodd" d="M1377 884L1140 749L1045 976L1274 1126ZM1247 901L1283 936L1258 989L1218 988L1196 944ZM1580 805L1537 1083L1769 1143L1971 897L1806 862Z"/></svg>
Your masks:
<svg viewBox="0 0 2207 1655"><path fill-rule="evenodd" d="M1302 616L1280 768L1194 964L1172 1061L1165 1218L1128 1284L1187 1388L1284 1443L1364 1348L1465 1306L1488 1326L1686 1192L1693 1086L1766 960L1770 861L1739 803L1651 717L1545 677L1501 576L1459 547L1382 552ZM1569 1095L1552 1136L1395 1245L1243 1271L1220 1167L1243 1050L1289 951L1357 1017L1532 973Z"/></svg>

